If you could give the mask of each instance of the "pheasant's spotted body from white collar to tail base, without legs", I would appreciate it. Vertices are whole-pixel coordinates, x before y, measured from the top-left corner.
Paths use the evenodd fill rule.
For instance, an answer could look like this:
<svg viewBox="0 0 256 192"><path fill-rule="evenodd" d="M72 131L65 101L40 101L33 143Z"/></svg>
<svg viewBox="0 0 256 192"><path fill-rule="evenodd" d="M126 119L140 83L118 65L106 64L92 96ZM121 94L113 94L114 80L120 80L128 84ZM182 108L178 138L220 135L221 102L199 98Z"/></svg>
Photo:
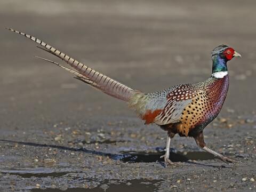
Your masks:
<svg viewBox="0 0 256 192"><path fill-rule="evenodd" d="M138 96L134 95L130 103L147 123L179 124L178 133L188 136L189 133L202 131L219 114L228 85L228 75L221 79L210 77L201 83L181 84L149 94L140 93L143 99L136 100L134 98ZM147 116L150 121L147 121Z"/></svg>

